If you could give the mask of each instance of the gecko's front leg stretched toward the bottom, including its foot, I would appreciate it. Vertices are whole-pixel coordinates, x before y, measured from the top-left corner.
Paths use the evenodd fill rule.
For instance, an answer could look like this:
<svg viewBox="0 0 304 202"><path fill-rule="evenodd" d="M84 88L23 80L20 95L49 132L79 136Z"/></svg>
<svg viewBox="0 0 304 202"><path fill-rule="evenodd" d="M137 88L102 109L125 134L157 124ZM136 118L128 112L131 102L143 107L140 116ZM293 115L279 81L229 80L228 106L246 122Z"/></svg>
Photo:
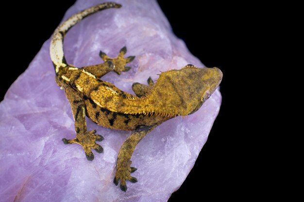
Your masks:
<svg viewBox="0 0 304 202"><path fill-rule="evenodd" d="M158 124L153 126L142 126L134 131L127 140L125 140L119 150L117 157L117 170L114 178L114 184L118 186L120 180L120 189L124 192L127 191L126 180L132 183L137 182L135 177L131 176L131 173L137 169L130 167L132 161L131 156L135 150L138 142L143 139L149 132L151 132Z"/></svg>

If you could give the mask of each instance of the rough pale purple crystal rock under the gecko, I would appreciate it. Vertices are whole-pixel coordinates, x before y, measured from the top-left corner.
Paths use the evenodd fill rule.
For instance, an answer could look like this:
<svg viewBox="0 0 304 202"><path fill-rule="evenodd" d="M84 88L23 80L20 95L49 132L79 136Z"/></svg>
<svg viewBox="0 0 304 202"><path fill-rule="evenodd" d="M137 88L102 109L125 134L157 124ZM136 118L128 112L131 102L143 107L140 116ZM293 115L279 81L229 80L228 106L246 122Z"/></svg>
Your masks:
<svg viewBox="0 0 304 202"><path fill-rule="evenodd" d="M134 0L135 1L135 0ZM133 82L146 83L159 71L203 64L190 54L155 0L138 0L120 9L89 16L65 39L67 61L77 67L101 63L102 50L110 57L121 47L135 55L132 69L102 79L133 93ZM104 0L78 0L64 19ZM130 1L131 2L131 1ZM173 118L156 127L136 147L132 166L138 182L127 182L123 192L113 183L122 142L131 134L98 126L87 119L105 140L104 153L88 161L81 146L61 139L75 136L74 121L65 94L55 83L49 53L50 40L16 80L0 103L1 202L166 202L194 165L219 112L219 90L196 113Z"/></svg>

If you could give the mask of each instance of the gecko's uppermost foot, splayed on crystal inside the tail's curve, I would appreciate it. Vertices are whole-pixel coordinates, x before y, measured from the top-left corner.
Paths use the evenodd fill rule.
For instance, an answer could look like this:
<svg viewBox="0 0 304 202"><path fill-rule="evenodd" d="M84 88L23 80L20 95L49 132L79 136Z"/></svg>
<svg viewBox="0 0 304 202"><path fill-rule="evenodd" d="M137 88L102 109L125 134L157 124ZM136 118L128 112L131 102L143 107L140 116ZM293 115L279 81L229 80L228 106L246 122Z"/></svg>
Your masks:
<svg viewBox="0 0 304 202"><path fill-rule="evenodd" d="M135 56L129 56L124 58L124 55L127 52L127 48L123 47L120 49L119 54L116 58L109 58L104 52L100 51L99 56L102 58L104 62L111 61L114 63L114 71L120 75L121 72L127 72L131 69L131 67L125 66L126 63L132 62Z"/></svg>

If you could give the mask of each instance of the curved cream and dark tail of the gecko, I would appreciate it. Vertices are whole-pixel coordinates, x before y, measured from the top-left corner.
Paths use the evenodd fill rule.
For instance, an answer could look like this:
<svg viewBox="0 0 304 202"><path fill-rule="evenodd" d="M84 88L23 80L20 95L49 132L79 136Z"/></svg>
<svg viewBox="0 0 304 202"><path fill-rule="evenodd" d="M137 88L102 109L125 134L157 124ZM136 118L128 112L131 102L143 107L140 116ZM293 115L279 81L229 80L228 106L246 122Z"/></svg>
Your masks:
<svg viewBox="0 0 304 202"><path fill-rule="evenodd" d="M51 61L54 64L56 74L59 72L60 67L66 67L68 65L64 51L63 51L63 39L68 32L68 30L73 27L76 23L84 19L84 17L94 14L98 11L107 8L120 8L121 5L118 3L108 2L101 3L85 9L71 17L69 17L65 22L59 25L53 33L51 38L50 54Z"/></svg>

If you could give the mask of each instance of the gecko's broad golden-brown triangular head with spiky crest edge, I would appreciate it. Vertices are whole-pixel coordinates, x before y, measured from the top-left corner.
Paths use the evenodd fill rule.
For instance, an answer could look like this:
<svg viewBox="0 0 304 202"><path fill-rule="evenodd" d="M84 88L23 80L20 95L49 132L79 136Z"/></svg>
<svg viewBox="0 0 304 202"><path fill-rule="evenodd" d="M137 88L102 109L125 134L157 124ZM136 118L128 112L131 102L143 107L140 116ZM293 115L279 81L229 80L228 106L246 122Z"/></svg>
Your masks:
<svg viewBox="0 0 304 202"><path fill-rule="evenodd" d="M156 84L163 83L165 99L169 99L171 114L188 115L203 105L211 94L219 87L222 72L219 68L198 68L188 64L180 70L163 72Z"/></svg>

